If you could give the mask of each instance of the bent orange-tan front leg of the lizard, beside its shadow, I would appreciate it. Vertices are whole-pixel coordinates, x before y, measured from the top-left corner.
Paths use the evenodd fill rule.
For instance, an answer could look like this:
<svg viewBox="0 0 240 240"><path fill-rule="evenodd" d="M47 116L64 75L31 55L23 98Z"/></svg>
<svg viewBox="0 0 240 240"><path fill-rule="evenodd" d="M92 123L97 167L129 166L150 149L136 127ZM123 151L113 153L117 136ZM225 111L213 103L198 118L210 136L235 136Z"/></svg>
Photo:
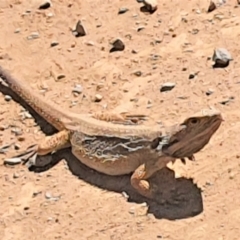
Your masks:
<svg viewBox="0 0 240 240"><path fill-rule="evenodd" d="M170 161L174 161L174 158L162 156L158 160L153 159L140 165L131 176L131 185L142 196L153 199L157 186L149 183L149 179L154 173L164 168Z"/></svg>

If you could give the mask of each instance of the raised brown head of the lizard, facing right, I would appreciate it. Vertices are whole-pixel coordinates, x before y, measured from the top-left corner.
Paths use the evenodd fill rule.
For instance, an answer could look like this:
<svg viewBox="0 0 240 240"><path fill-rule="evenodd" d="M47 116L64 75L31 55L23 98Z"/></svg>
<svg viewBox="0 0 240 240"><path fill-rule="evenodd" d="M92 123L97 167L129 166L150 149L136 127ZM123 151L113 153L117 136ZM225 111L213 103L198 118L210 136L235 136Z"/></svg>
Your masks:
<svg viewBox="0 0 240 240"><path fill-rule="evenodd" d="M167 144L162 147L162 152L175 158L191 158L204 148L222 121L219 111L203 109L175 127Z"/></svg>

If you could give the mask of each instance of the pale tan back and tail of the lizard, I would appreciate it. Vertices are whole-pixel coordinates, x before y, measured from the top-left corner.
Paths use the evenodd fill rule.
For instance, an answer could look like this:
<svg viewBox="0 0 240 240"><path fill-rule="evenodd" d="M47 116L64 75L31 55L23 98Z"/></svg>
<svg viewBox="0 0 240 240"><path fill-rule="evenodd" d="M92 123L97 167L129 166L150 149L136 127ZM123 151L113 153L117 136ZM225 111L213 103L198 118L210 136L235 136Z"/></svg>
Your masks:
<svg viewBox="0 0 240 240"><path fill-rule="evenodd" d="M76 114L63 110L53 102L43 99L34 92L26 83L14 78L7 70L0 66L0 77L9 87L17 93L29 106L40 116L46 119L59 131L68 129L70 131L83 132L86 135L105 135L117 137L142 137L154 139L162 135L163 128L159 125L122 125L94 119L88 114Z"/></svg>

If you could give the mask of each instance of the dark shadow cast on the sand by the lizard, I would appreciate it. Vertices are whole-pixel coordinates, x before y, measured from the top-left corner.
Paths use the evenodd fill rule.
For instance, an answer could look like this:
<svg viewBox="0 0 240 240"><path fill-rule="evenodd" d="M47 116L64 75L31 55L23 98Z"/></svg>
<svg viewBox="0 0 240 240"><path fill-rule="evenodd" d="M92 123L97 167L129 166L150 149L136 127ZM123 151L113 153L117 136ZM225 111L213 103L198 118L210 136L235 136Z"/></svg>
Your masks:
<svg viewBox="0 0 240 240"><path fill-rule="evenodd" d="M39 116L26 102L24 102L11 89L0 84L0 91L12 97L13 100L20 103L33 116L36 123L39 124L41 130L46 134L57 132L45 119ZM41 166L41 159L49 164ZM174 172L168 168L164 168L154 175L150 181L158 186L159 193L156 201L149 200L140 196L130 184L130 175L125 176L108 176L94 171L82 164L69 149L60 150L52 155L38 157L37 163L40 167L32 167L29 170L34 172L47 171L55 166L62 159L66 159L69 169L73 175L78 176L85 182L97 186L99 188L113 191L117 193L125 192L129 202L143 203L148 205L147 213L153 214L158 219L183 219L196 216L203 211L203 201L201 189L199 189L192 179L178 178L174 176Z"/></svg>

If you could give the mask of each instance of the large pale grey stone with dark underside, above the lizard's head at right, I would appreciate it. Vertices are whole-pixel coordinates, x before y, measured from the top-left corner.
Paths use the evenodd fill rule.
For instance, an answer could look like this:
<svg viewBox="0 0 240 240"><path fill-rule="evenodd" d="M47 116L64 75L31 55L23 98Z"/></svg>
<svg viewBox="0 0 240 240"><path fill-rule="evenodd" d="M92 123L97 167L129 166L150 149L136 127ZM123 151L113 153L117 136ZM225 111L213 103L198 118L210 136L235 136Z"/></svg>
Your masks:
<svg viewBox="0 0 240 240"><path fill-rule="evenodd" d="M227 49L218 48L214 50L212 60L215 62L213 67L224 68L224 67L227 67L229 65L229 62L233 59Z"/></svg>

